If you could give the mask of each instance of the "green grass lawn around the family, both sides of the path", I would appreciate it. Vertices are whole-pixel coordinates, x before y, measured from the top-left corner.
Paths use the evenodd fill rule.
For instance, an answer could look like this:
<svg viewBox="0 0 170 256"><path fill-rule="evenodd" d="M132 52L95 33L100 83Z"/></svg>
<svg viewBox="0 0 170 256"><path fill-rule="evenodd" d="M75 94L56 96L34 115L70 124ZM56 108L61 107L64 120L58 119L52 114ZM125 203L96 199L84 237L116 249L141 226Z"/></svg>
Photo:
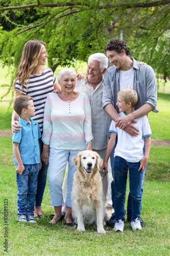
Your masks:
<svg viewBox="0 0 170 256"><path fill-rule="evenodd" d="M7 71L7 70L6 70ZM5 70L3 70L5 76ZM0 72L0 79L2 77ZM8 83L7 77L3 78ZM2 80L0 80L2 81ZM2 84L0 82L0 84ZM154 139L170 139L169 115L170 86L161 88L158 93L159 113L150 113ZM6 87L0 87L1 93ZM0 131L11 131L11 95L0 102ZM37 225L18 223L16 204L16 173L12 157L12 138L0 137L0 255L170 255L170 147L151 147L148 169L145 174L141 217L146 223L142 230L132 231L125 223L123 233L114 232L106 227L105 235L96 232L96 226L86 227L85 232L67 227L64 223L51 225L49 216L54 213L50 204L50 193L46 185L42 209L45 217L38 219ZM129 189L127 189L128 193ZM4 215L7 208L8 216ZM5 209L5 210L4 210ZM8 218L8 219L7 219ZM5 223L7 221L7 223ZM7 237L5 237L7 236ZM8 239L6 241L5 239ZM8 252L5 252L5 242Z"/></svg>

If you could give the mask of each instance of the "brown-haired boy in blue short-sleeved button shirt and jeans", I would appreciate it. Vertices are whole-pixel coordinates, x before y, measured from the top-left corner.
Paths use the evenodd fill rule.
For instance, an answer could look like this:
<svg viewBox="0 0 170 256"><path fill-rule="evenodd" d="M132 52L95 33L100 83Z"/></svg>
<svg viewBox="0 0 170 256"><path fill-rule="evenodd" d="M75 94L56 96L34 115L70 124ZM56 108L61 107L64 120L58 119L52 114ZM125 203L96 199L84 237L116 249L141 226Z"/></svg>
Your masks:
<svg viewBox="0 0 170 256"><path fill-rule="evenodd" d="M30 117L35 116L33 98L17 96L13 107L19 115L20 131L13 134L13 153L16 166L18 220L37 223L34 219L34 204L37 177L41 167L39 124Z"/></svg>

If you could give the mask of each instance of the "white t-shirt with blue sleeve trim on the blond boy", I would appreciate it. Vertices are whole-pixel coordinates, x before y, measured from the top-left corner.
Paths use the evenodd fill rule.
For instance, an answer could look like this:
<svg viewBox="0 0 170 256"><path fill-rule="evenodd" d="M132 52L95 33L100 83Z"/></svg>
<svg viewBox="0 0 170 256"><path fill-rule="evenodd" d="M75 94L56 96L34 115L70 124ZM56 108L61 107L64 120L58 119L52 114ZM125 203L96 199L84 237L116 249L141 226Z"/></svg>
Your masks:
<svg viewBox="0 0 170 256"><path fill-rule="evenodd" d="M119 113L120 116L125 116L124 112ZM139 130L138 136L132 137L125 131L115 127L115 122L112 121L109 132L117 135L117 145L114 151L114 157L119 156L128 162L136 163L143 158L144 138L152 135L151 127L147 116L134 119L137 123L133 125Z"/></svg>

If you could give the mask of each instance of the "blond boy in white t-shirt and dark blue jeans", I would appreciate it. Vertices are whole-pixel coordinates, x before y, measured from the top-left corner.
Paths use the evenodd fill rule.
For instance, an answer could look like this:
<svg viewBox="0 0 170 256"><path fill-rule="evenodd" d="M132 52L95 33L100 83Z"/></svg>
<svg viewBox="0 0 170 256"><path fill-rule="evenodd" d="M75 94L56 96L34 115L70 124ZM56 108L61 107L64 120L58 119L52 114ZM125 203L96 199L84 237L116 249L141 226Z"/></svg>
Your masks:
<svg viewBox="0 0 170 256"><path fill-rule="evenodd" d="M137 93L133 89L124 89L117 94L118 109L120 116L127 116L134 111L137 103ZM107 161L112 152L116 141L117 145L114 152L114 174L115 174L115 231L123 231L125 223L125 196L127 175L129 169L129 186L130 195L132 198L132 217L131 226L133 230L142 229L140 225L140 211L141 211L141 183L143 170L147 166L151 148L151 128L148 117L134 119L134 126L139 130L138 136L132 137L125 131L115 127L115 122L112 121L109 132L111 137L108 142L107 152L105 156L102 169L105 168L107 172ZM145 143L145 153L143 155L143 146Z"/></svg>

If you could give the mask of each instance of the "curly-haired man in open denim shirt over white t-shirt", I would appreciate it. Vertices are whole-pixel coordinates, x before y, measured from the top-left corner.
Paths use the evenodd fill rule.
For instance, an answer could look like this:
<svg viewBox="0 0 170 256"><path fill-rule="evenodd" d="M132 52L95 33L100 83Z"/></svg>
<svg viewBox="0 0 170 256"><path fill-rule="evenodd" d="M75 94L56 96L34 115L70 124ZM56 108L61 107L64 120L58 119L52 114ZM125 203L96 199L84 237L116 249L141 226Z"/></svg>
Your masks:
<svg viewBox="0 0 170 256"><path fill-rule="evenodd" d="M130 136L137 136L138 130L133 125L133 120L147 115L150 111L158 112L157 105L157 84L155 73L149 65L139 65L130 58L130 48L126 42L119 39L111 39L105 46L105 51L113 67L107 69L104 77L103 88L103 108L111 119L116 122L116 126L123 129ZM135 111L127 116L119 117L117 93L125 88L132 88L138 94L138 102ZM110 123L109 122L109 123ZM110 125L108 125L110 126ZM114 148L113 148L114 151ZM112 175L114 178L114 152L111 155ZM143 176L144 177L144 176ZM141 193L143 192L143 183ZM114 207L115 195L114 182L112 182L112 201ZM114 214L108 224L114 226ZM125 221L125 220L123 220ZM131 197L128 198L127 221L131 221ZM141 226L144 226L140 219Z"/></svg>

